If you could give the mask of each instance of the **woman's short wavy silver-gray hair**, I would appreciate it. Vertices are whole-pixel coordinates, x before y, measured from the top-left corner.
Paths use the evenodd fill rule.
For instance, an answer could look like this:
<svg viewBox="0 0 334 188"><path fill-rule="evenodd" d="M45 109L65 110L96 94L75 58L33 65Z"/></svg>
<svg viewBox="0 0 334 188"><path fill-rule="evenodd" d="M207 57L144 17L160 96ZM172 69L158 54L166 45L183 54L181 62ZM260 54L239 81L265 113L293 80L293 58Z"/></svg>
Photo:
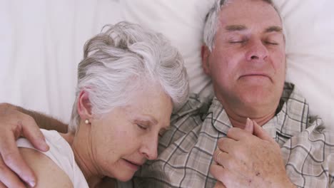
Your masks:
<svg viewBox="0 0 334 188"><path fill-rule="evenodd" d="M69 131L76 132L80 123L77 103L82 90L88 93L93 115L128 105L131 93L143 85L161 86L174 110L186 103L189 84L183 58L161 33L128 22L104 29L84 46Z"/></svg>

